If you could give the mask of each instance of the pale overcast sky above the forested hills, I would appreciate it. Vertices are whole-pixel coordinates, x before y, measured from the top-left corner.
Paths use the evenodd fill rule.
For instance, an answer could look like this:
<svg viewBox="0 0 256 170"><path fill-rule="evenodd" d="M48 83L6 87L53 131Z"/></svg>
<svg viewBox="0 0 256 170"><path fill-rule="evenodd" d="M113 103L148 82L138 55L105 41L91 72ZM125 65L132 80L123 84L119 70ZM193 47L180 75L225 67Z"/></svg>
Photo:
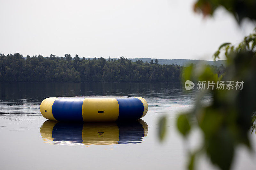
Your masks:
<svg viewBox="0 0 256 170"><path fill-rule="evenodd" d="M212 60L240 28L225 10L193 12L194 0L0 0L0 53L72 57Z"/></svg>

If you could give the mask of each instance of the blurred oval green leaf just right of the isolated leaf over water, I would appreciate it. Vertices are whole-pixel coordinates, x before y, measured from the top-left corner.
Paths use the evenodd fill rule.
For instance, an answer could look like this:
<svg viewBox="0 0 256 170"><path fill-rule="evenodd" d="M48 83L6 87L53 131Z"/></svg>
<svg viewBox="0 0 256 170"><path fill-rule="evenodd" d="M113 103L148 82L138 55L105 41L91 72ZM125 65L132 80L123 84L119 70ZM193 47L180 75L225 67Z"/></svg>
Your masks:
<svg viewBox="0 0 256 170"><path fill-rule="evenodd" d="M179 115L178 119L177 119L177 127L178 130L180 131L180 133L186 137L190 131L190 124L188 121L188 117L186 114L181 114Z"/></svg>

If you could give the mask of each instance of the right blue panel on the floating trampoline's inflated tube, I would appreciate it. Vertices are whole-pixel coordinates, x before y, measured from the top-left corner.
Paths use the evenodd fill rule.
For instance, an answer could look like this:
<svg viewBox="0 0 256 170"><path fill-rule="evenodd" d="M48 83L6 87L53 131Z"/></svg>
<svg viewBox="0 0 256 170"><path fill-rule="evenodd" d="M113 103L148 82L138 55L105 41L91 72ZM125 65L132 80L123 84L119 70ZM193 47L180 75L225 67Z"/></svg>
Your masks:
<svg viewBox="0 0 256 170"><path fill-rule="evenodd" d="M140 99L131 98L116 98L119 105L119 115L117 121L138 120L144 112L143 103Z"/></svg>

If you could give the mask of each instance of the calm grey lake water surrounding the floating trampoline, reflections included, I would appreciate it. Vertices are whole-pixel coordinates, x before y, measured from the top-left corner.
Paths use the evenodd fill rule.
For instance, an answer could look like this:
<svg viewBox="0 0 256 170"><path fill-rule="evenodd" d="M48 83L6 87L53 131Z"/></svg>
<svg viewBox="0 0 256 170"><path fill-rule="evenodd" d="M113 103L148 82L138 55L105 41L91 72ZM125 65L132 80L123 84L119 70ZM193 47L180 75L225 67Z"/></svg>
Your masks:
<svg viewBox="0 0 256 170"><path fill-rule="evenodd" d="M193 129L185 141L177 133L177 114L193 109L196 90L183 93L179 83L0 83L1 169L185 169L188 148L200 145ZM140 121L66 124L47 121L40 103L55 96L140 96L148 113ZM211 102L211 94L204 104ZM168 117L164 142L157 121ZM233 169L256 169L253 152L240 147ZM203 156L198 169L216 169Z"/></svg>

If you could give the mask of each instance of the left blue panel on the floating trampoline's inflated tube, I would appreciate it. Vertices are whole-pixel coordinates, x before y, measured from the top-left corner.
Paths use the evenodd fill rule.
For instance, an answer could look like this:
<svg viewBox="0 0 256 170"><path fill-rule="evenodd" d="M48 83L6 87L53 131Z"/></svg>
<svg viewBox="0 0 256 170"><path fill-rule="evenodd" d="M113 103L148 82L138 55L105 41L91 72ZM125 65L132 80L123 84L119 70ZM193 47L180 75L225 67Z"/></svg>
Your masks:
<svg viewBox="0 0 256 170"><path fill-rule="evenodd" d="M58 121L83 121L84 99L57 99L52 105L52 115Z"/></svg>

